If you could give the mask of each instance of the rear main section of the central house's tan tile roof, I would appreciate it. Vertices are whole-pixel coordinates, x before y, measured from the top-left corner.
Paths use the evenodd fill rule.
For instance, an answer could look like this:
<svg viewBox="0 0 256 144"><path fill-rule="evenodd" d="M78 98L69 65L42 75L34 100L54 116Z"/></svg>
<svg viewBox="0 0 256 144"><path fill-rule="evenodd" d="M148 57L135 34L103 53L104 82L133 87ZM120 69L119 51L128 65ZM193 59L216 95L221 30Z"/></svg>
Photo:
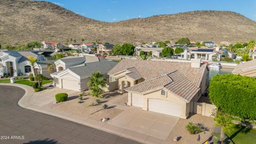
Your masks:
<svg viewBox="0 0 256 144"><path fill-rule="evenodd" d="M124 59L111 69L108 74L114 75L115 73L119 73L119 71L133 67L135 67L141 77L146 80L179 70L183 76L187 77L189 81L198 87L201 83L202 74L206 69L206 65L203 65L200 68L191 68L190 62Z"/></svg>

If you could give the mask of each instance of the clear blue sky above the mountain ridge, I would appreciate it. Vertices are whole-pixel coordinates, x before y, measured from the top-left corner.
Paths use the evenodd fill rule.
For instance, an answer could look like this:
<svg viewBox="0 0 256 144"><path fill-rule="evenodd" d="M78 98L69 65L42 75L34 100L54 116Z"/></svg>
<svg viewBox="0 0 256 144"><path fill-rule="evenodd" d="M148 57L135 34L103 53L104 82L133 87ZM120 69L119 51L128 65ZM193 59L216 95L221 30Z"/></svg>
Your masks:
<svg viewBox="0 0 256 144"><path fill-rule="evenodd" d="M115 22L195 10L234 11L256 21L256 0L45 0L84 17Z"/></svg>

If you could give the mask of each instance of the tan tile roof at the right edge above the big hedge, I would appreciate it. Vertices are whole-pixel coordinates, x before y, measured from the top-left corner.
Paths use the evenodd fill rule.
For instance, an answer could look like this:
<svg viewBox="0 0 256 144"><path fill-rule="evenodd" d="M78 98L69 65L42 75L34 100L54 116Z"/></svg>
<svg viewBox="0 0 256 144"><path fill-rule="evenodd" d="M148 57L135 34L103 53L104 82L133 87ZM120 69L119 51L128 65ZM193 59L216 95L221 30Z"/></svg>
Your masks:
<svg viewBox="0 0 256 144"><path fill-rule="evenodd" d="M233 74L239 74L243 73L244 71L254 69L256 68L256 59L247 61L244 63L240 63L239 65L236 66L236 68L232 71Z"/></svg>

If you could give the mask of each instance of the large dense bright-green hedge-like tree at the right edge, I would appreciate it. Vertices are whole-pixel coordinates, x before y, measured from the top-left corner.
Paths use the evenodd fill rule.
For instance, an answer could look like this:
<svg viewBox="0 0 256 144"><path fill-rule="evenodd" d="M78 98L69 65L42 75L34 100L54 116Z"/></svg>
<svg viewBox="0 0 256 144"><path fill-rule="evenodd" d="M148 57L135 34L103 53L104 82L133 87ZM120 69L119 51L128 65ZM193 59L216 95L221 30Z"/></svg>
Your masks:
<svg viewBox="0 0 256 144"><path fill-rule="evenodd" d="M225 114L240 118L256 118L256 79L224 74L211 78L210 101Z"/></svg>

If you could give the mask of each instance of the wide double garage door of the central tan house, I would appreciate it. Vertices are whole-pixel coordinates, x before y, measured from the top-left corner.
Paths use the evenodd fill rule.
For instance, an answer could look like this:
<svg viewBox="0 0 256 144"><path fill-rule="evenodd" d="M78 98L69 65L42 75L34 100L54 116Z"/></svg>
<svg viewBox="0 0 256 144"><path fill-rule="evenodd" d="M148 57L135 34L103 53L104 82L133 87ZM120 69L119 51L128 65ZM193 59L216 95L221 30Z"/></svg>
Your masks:
<svg viewBox="0 0 256 144"><path fill-rule="evenodd" d="M181 107L178 103L161 99L148 99L148 110L178 117L181 114Z"/></svg>

